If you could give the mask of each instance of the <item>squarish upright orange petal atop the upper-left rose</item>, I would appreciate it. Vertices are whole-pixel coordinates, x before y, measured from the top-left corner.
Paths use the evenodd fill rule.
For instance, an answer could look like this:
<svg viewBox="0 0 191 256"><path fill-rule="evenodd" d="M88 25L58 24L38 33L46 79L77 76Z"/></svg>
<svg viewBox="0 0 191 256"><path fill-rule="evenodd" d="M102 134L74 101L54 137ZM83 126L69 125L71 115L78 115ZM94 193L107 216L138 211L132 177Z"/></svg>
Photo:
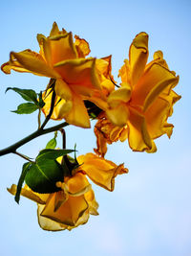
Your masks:
<svg viewBox="0 0 191 256"><path fill-rule="evenodd" d="M53 64L65 59L77 58L72 33L53 35L48 37L48 40L50 42Z"/></svg>

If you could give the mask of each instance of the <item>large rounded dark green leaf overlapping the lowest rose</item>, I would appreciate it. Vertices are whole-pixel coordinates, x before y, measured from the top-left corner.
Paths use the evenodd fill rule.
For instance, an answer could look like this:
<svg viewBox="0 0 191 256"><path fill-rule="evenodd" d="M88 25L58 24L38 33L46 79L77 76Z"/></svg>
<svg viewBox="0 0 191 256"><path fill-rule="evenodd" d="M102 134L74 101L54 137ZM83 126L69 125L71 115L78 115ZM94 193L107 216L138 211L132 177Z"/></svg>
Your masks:
<svg viewBox="0 0 191 256"><path fill-rule="evenodd" d="M60 190L55 183L63 182L64 172L60 164L55 160L46 159L46 161L36 161L32 163L30 171L25 177L25 182L32 191L46 194Z"/></svg>

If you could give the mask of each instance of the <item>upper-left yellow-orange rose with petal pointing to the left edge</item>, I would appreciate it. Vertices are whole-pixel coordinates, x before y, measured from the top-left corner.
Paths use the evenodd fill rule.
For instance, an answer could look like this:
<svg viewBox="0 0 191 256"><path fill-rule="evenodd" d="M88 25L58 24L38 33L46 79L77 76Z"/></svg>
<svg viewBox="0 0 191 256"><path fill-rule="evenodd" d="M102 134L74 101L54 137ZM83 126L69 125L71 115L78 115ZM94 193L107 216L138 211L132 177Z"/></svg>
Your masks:
<svg viewBox="0 0 191 256"><path fill-rule="evenodd" d="M35 75L55 79L55 93L63 99L60 116L75 126L89 128L90 120L83 103L83 96L91 96L94 89L100 89L96 74L96 58L85 58L89 45L85 39L65 30L59 31L56 23L50 36L37 35L39 54L31 50L11 52L10 61L1 69L6 74L11 69L31 72Z"/></svg>

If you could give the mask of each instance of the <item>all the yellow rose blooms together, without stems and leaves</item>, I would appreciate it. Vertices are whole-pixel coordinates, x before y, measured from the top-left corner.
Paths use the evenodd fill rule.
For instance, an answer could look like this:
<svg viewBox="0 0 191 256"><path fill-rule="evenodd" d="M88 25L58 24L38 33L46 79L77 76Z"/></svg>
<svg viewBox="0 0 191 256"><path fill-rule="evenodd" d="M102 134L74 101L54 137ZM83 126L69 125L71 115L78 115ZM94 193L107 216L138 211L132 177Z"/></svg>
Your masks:
<svg viewBox="0 0 191 256"><path fill-rule="evenodd" d="M38 222L43 229L71 230L87 222L90 214L97 215L98 204L88 178L113 191L115 177L128 172L123 164L117 166L104 158L107 144L128 140L132 151L155 152L155 139L165 133L170 138L173 125L167 120L180 100L173 90L179 76L170 71L161 51L147 63L146 33L133 40L129 59L119 69L118 85L112 75L112 57L89 57L89 44L78 35L59 31L53 23L50 35L37 35L37 40L39 53L11 52L2 71L30 72L51 79L42 94L41 110L46 118L64 119L80 128L90 128L91 119L97 120L96 153L78 156L71 172L55 182L57 191L38 193L28 184L21 189L22 196L37 202ZM67 166L71 159L67 157L55 161ZM9 192L15 195L16 185Z"/></svg>

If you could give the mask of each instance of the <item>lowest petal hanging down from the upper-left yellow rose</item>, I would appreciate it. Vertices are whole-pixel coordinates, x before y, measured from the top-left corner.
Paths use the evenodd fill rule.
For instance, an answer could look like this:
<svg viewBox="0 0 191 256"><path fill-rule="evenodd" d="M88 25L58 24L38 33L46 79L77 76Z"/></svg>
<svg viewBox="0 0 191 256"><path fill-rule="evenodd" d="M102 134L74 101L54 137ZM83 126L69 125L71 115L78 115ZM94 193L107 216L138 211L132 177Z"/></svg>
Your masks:
<svg viewBox="0 0 191 256"><path fill-rule="evenodd" d="M65 116L67 123L81 127L90 128L90 118L81 97L73 92L73 107Z"/></svg>

